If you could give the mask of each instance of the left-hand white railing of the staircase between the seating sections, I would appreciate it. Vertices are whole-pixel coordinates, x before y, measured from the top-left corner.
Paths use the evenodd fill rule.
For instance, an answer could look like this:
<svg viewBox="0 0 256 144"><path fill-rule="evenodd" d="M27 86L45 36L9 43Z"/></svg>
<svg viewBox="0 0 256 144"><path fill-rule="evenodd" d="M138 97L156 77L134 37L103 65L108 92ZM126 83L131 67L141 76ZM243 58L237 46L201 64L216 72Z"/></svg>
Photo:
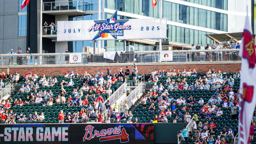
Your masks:
<svg viewBox="0 0 256 144"><path fill-rule="evenodd" d="M111 104L113 104L123 93L126 92L126 82L124 82L121 86L119 86L119 88L114 91L114 93L112 95L110 95L110 97L107 98L107 100L103 103L103 107L105 107L105 103L109 100ZM103 119L107 118L107 112L104 111L102 113L102 117Z"/></svg>

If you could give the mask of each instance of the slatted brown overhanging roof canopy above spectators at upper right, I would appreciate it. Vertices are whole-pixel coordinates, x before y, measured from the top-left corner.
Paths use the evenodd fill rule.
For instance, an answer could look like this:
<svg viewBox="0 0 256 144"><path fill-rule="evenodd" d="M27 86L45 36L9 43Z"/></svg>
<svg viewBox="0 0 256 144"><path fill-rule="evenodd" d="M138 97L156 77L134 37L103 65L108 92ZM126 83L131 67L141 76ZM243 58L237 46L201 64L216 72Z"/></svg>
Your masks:
<svg viewBox="0 0 256 144"><path fill-rule="evenodd" d="M234 38L235 42L238 42L242 38L242 32L235 32L235 33L221 33L221 34L206 34L206 36L213 41L220 43L220 42L227 42L231 38Z"/></svg>

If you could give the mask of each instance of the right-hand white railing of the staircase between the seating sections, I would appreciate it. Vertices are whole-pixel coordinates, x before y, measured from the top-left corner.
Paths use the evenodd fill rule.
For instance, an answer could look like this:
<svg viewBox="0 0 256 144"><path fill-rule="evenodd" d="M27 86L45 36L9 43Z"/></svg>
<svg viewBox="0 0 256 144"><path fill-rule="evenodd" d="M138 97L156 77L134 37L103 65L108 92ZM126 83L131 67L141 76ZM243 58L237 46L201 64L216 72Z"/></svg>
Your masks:
<svg viewBox="0 0 256 144"><path fill-rule="evenodd" d="M120 111L124 111L125 109L125 102L127 101L128 106L132 106L132 102L134 98L138 98L138 95L143 92L143 82L140 82L139 85L118 105L120 106Z"/></svg>

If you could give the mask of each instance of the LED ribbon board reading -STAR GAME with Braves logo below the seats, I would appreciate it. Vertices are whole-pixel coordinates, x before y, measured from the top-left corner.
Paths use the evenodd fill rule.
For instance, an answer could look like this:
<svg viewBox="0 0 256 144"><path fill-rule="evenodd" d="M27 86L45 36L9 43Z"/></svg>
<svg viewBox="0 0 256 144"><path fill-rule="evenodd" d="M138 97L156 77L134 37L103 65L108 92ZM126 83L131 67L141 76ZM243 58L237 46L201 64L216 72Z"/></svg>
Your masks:
<svg viewBox="0 0 256 144"><path fill-rule="evenodd" d="M154 124L1 124L0 144L153 144Z"/></svg>

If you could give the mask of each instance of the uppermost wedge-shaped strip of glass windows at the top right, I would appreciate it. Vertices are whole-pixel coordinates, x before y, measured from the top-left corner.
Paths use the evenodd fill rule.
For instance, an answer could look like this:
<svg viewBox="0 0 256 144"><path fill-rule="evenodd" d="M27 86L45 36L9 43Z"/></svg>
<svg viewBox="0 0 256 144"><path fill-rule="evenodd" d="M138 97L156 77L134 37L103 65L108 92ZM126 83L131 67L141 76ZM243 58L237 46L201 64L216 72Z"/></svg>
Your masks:
<svg viewBox="0 0 256 144"><path fill-rule="evenodd" d="M182 0L182 1L214 7L222 10L228 10L228 0Z"/></svg>

